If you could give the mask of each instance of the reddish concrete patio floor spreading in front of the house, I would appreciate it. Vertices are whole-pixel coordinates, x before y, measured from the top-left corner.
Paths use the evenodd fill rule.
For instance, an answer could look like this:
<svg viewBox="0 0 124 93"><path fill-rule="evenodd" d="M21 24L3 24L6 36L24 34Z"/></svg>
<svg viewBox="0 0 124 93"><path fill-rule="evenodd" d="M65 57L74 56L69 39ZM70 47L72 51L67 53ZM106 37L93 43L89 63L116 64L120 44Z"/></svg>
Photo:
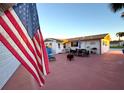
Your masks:
<svg viewBox="0 0 124 93"><path fill-rule="evenodd" d="M56 55L50 62L50 74L39 87L34 78L20 66L3 90L118 90L124 89L124 55L110 51L103 55L75 57L66 60L66 54Z"/></svg>

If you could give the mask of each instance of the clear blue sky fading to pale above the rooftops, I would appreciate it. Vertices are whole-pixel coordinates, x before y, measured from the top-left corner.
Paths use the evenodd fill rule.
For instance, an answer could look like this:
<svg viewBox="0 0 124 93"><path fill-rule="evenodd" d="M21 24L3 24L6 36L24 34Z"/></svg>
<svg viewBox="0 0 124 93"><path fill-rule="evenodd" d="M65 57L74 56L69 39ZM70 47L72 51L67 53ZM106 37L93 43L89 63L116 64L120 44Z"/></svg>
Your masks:
<svg viewBox="0 0 124 93"><path fill-rule="evenodd" d="M38 3L37 9L44 39L109 33L116 40L124 32L122 11L113 13L108 3Z"/></svg>

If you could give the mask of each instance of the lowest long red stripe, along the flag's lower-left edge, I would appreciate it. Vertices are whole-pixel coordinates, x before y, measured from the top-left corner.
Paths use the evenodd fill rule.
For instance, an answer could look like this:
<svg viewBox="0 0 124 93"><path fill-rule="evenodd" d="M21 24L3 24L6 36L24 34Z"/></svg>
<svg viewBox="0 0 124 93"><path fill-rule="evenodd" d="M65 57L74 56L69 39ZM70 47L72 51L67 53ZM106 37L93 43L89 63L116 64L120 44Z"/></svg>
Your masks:
<svg viewBox="0 0 124 93"><path fill-rule="evenodd" d="M21 64L33 75L38 84L40 85L40 81L38 77L34 73L34 71L26 64L26 62L19 56L19 54L14 50L14 48L7 42L7 40L0 34L0 41L11 51L11 53L21 62ZM41 85L40 85L41 86Z"/></svg>

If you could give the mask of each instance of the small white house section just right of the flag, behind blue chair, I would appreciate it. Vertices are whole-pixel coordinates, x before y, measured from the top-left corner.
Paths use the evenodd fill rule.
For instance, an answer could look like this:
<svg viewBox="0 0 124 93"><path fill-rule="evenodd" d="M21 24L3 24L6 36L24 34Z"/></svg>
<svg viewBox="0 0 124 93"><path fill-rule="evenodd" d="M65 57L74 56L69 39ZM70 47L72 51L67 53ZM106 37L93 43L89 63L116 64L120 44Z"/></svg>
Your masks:
<svg viewBox="0 0 124 93"><path fill-rule="evenodd" d="M63 52L63 41L54 38L47 38L44 40L46 46L50 46L54 54L62 53Z"/></svg>

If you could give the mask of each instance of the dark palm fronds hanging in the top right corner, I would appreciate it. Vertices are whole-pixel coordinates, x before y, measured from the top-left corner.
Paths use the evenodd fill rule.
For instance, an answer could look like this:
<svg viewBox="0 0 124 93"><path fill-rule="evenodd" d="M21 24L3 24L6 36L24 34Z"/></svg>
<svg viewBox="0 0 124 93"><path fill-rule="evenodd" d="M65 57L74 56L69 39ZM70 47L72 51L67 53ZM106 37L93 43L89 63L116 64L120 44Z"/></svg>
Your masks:
<svg viewBox="0 0 124 93"><path fill-rule="evenodd" d="M111 3L110 7L111 7L111 10L115 13L124 8L124 3ZM121 13L121 17L124 17L124 12Z"/></svg>

